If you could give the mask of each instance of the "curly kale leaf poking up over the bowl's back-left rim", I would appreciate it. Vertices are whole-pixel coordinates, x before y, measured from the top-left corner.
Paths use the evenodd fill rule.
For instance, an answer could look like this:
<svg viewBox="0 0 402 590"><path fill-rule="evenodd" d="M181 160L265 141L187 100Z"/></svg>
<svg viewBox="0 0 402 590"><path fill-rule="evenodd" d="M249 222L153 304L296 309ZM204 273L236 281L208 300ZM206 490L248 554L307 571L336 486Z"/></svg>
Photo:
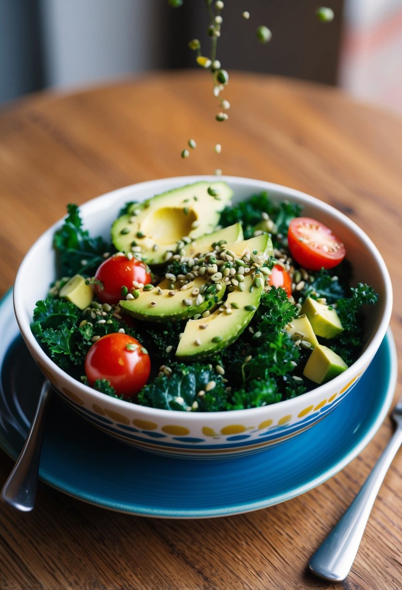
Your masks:
<svg viewBox="0 0 402 590"><path fill-rule="evenodd" d="M91 276L104 261L103 254L114 251L114 248L101 237L91 238L88 231L83 229L77 205L68 205L67 211L64 224L55 232L53 240L60 275Z"/></svg>

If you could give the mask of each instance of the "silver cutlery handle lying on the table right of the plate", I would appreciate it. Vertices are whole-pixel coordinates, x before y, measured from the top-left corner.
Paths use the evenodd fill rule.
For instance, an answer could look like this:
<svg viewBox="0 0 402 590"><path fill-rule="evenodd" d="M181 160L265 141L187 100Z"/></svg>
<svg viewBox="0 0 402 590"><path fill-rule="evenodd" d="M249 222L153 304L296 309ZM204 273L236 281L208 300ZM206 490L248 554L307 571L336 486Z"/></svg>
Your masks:
<svg viewBox="0 0 402 590"><path fill-rule="evenodd" d="M357 554L374 500L401 444L402 423L397 426L373 471L340 522L310 559L308 565L312 573L334 582L341 582L346 578Z"/></svg>

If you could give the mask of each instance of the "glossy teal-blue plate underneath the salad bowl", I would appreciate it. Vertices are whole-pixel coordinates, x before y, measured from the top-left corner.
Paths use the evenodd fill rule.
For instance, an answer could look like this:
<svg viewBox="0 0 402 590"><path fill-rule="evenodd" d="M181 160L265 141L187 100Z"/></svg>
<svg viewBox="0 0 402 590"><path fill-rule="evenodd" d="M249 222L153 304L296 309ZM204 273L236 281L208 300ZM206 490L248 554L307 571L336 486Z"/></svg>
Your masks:
<svg viewBox="0 0 402 590"><path fill-rule="evenodd" d="M0 304L0 446L16 459L34 415L42 374L19 336L8 293ZM324 420L256 454L192 461L144 453L92 427L58 396L42 448L42 481L118 512L167 518L229 516L289 500L332 477L374 436L396 386L393 336Z"/></svg>

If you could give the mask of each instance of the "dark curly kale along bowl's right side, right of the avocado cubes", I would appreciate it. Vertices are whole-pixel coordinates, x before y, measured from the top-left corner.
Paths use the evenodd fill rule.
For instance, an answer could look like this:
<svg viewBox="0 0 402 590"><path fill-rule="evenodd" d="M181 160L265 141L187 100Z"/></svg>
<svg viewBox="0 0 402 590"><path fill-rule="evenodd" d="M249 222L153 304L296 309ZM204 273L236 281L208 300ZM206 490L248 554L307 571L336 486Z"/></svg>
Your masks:
<svg viewBox="0 0 402 590"><path fill-rule="evenodd" d="M377 303L378 295L373 287L358 283L351 288L350 297L342 297L337 300L336 310L340 317L344 331L331 342L331 348L341 358L351 365L360 351L363 343L364 316L362 307Z"/></svg>

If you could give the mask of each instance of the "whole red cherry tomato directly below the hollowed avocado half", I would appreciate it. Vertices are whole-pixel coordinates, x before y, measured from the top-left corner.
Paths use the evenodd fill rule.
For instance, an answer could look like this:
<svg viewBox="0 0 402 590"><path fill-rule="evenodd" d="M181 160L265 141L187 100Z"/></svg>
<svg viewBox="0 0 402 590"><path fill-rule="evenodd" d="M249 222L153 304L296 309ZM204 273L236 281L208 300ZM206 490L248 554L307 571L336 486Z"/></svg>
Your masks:
<svg viewBox="0 0 402 590"><path fill-rule="evenodd" d="M102 303L118 303L124 299L121 294L121 287L133 288L133 281L146 285L151 282L151 275L146 264L137 258L128 258L117 254L107 258L98 267L95 279L102 283L102 286L95 283L94 289L98 299Z"/></svg>

